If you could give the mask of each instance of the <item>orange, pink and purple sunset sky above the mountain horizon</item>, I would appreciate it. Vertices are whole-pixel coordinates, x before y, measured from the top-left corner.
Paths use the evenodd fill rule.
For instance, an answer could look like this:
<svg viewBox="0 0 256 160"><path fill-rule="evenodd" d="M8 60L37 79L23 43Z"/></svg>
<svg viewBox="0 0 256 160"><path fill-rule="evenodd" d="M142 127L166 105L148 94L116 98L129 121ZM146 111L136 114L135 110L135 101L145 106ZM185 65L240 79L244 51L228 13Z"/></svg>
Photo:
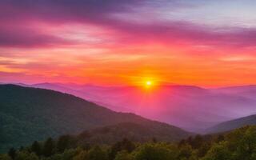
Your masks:
<svg viewBox="0 0 256 160"><path fill-rule="evenodd" d="M256 84L254 0L1 0L0 82Z"/></svg>

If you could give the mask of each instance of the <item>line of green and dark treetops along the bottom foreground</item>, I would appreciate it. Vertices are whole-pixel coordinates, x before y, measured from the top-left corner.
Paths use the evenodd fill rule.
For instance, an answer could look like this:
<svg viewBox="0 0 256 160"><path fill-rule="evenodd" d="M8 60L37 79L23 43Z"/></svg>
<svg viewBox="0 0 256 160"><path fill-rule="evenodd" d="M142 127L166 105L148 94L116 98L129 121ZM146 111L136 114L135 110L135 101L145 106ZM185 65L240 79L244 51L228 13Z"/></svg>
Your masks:
<svg viewBox="0 0 256 160"><path fill-rule="evenodd" d="M113 145L80 142L69 135L11 148L1 160L255 160L256 126L226 134L196 135L180 142L139 143L123 139Z"/></svg>

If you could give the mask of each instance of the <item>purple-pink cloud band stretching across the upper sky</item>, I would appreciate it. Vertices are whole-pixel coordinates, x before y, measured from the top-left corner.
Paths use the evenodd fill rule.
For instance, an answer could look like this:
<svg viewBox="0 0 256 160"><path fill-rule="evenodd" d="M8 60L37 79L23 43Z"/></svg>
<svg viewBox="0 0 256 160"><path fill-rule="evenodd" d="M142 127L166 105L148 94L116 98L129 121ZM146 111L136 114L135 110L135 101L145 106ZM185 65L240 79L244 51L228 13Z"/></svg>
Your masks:
<svg viewBox="0 0 256 160"><path fill-rule="evenodd" d="M165 2L165 1L163 1ZM0 18L2 24L15 26L17 23L42 21L51 24L83 23L94 24L116 30L113 35L122 42L155 41L172 44L196 44L216 46L256 46L255 29L226 29L216 31L206 26L189 22L171 22L151 19L152 23L138 23L116 18L114 14L136 13L142 6L159 6L153 1L138 0L2 0ZM174 1L173 7L181 7ZM150 12L150 10L148 10ZM140 13L138 13L140 14ZM150 18L149 18L150 19ZM24 31L25 30L25 31ZM0 28L0 46L38 47L69 44L58 38L37 30L13 27L12 30ZM72 43L72 42L71 42Z"/></svg>

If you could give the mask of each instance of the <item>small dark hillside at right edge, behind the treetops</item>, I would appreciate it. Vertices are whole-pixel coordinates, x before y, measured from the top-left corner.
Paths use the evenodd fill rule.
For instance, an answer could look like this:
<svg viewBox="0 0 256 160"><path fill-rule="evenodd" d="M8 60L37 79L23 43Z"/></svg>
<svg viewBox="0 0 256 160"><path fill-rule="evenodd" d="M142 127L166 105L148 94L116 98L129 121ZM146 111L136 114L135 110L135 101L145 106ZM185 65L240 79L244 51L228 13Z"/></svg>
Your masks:
<svg viewBox="0 0 256 160"><path fill-rule="evenodd" d="M227 121L227 122L219 123L218 125L207 129L206 133L208 133L208 134L221 133L221 132L234 130L234 129L240 128L242 126L247 126L247 125L256 125L256 114L250 115L247 117L243 117L243 118L237 118L237 119Z"/></svg>

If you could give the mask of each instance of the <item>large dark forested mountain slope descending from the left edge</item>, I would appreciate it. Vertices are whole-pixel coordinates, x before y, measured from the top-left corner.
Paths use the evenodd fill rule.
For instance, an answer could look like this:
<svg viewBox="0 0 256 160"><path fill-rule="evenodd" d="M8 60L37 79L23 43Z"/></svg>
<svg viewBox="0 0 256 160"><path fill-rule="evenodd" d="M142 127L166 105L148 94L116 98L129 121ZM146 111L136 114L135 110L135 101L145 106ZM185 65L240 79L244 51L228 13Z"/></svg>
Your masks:
<svg viewBox="0 0 256 160"><path fill-rule="evenodd" d="M189 134L175 126L154 122L135 114L114 112L82 98L53 90L0 85L0 106L0 151L11 146L26 145L34 140L40 141L62 134L79 134L84 130L123 122L148 128L148 134L154 136L158 136L158 131L159 135L168 134L173 140Z"/></svg>

